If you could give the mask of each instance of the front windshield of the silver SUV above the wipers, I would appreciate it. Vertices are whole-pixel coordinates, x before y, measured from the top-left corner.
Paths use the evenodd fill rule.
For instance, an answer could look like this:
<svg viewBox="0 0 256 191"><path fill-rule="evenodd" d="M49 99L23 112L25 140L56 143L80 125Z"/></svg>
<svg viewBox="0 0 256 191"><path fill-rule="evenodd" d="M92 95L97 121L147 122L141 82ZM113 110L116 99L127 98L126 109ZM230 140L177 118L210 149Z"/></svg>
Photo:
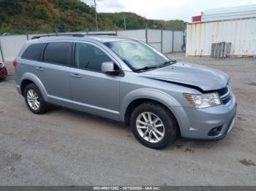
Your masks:
<svg viewBox="0 0 256 191"><path fill-rule="evenodd" d="M124 40L105 42L105 45L116 54L133 70L152 69L170 62L162 53L136 40Z"/></svg>

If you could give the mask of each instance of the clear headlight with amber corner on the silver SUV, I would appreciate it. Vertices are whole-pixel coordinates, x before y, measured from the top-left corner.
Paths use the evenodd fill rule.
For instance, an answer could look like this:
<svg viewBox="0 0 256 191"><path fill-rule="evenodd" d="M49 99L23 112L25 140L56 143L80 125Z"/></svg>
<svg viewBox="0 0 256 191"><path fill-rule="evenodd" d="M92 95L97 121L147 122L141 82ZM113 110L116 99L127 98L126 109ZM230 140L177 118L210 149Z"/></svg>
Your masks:
<svg viewBox="0 0 256 191"><path fill-rule="evenodd" d="M218 93L207 93L201 95L184 93L183 95L187 101L189 101L189 103L196 108L205 108L222 104Z"/></svg>

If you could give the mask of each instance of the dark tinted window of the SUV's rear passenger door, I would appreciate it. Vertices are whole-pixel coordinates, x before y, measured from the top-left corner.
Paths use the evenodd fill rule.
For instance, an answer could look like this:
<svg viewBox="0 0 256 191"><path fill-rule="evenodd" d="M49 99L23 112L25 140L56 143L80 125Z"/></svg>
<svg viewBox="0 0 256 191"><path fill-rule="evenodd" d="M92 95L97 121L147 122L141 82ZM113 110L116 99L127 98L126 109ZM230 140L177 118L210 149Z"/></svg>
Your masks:
<svg viewBox="0 0 256 191"><path fill-rule="evenodd" d="M71 55L71 42L50 42L45 47L43 61L69 65Z"/></svg>

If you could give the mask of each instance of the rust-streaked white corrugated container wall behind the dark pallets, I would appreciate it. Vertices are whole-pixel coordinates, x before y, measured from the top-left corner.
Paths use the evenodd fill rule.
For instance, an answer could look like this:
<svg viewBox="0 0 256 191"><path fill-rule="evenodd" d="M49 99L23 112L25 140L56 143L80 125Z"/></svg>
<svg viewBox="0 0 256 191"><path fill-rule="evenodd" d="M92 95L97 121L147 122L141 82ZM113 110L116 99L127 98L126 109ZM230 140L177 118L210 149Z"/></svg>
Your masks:
<svg viewBox="0 0 256 191"><path fill-rule="evenodd" d="M187 25L187 56L211 55L217 42L231 42L230 55L256 55L256 18Z"/></svg>

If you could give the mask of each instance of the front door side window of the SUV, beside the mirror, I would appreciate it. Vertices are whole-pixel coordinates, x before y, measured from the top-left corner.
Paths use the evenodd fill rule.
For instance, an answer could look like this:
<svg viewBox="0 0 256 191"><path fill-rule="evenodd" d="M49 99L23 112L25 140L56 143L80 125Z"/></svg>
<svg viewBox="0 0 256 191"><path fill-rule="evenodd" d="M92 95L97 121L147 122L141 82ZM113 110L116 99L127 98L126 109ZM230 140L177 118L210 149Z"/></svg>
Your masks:
<svg viewBox="0 0 256 191"><path fill-rule="evenodd" d="M111 61L108 55L91 44L75 44L75 66L80 69L101 71L102 63Z"/></svg>

